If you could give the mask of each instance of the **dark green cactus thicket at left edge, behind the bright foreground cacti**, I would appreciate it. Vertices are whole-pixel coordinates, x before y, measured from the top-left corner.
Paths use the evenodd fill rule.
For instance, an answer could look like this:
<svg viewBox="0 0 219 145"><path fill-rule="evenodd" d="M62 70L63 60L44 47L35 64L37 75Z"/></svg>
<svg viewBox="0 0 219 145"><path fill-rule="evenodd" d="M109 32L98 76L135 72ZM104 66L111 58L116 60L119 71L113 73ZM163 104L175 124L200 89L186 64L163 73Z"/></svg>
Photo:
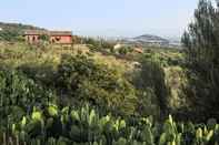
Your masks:
<svg viewBox="0 0 219 145"><path fill-rule="evenodd" d="M30 112L32 106L56 102L51 91L46 91L18 71L0 70L0 130ZM38 116L38 115L34 115Z"/></svg>

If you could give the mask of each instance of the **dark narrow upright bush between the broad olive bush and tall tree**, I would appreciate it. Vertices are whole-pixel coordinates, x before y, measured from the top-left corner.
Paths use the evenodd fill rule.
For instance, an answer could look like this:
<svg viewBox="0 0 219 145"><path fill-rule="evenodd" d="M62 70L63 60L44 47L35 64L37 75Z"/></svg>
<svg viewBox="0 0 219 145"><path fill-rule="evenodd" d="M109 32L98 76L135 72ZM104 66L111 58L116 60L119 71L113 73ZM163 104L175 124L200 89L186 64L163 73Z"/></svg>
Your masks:
<svg viewBox="0 0 219 145"><path fill-rule="evenodd" d="M168 111L167 97L169 92L165 82L165 71L159 61L143 56L141 59L141 69L136 72L133 83L140 90L141 95L139 97L141 100L139 101L139 112L141 110L147 111L146 108L150 106L149 111L153 116L165 116ZM151 112L151 110L153 111Z"/></svg>

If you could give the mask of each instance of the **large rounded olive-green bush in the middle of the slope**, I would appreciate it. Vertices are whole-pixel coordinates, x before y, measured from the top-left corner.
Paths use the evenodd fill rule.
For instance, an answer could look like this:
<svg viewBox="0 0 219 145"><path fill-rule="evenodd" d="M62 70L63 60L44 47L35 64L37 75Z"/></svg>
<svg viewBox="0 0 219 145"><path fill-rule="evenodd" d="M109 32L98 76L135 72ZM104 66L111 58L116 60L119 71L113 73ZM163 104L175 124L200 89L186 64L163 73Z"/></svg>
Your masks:
<svg viewBox="0 0 219 145"><path fill-rule="evenodd" d="M62 56L56 86L77 100L125 114L133 114L136 108L133 86L116 69L98 64L86 55Z"/></svg>

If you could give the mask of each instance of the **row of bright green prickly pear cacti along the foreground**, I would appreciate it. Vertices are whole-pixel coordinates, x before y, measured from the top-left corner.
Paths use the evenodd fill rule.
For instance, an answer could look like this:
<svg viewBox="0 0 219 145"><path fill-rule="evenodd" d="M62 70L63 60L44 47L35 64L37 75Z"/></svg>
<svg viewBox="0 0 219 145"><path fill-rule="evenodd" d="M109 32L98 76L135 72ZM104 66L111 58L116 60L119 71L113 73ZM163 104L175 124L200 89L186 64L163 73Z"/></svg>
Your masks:
<svg viewBox="0 0 219 145"><path fill-rule="evenodd" d="M219 142L219 124L216 123L211 126L177 123L169 115L158 124L152 117L100 115L89 105L54 110L56 116L43 110L23 115L12 123L8 134L0 132L0 141L3 138L3 144L11 142L12 145L212 145Z"/></svg>

